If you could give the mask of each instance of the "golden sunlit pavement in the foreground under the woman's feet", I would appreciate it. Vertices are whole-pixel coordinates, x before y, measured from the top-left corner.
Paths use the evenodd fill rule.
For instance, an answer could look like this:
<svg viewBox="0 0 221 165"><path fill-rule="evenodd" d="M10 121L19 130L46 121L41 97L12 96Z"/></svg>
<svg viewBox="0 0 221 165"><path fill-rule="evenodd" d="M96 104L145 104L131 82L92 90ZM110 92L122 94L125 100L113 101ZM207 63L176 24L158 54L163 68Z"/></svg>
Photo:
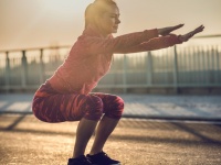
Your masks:
<svg viewBox="0 0 221 165"><path fill-rule="evenodd" d="M77 122L0 116L1 165L66 165ZM122 165L220 165L221 124L122 119L104 151ZM86 153L93 144L91 139Z"/></svg>

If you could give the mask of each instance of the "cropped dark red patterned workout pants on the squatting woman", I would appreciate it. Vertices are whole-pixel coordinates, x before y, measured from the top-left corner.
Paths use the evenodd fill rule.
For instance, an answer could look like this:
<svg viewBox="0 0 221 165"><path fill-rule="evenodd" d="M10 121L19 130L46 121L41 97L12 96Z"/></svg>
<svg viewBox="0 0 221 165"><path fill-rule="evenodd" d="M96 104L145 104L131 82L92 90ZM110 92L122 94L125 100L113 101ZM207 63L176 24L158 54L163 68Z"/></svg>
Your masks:
<svg viewBox="0 0 221 165"><path fill-rule="evenodd" d="M44 122L78 121L82 118L98 121L102 116L120 119L124 100L114 95L92 92L59 94L49 82L35 92L32 111Z"/></svg>

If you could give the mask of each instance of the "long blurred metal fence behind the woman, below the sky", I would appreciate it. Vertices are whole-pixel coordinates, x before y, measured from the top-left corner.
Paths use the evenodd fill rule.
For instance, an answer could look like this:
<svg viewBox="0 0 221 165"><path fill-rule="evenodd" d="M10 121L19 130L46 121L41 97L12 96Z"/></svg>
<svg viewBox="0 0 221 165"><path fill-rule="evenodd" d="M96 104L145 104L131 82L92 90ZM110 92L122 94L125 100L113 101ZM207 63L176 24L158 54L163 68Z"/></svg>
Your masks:
<svg viewBox="0 0 221 165"><path fill-rule="evenodd" d="M70 46L0 52L0 90L36 89L63 63ZM221 47L173 46L114 55L96 89L221 87Z"/></svg>

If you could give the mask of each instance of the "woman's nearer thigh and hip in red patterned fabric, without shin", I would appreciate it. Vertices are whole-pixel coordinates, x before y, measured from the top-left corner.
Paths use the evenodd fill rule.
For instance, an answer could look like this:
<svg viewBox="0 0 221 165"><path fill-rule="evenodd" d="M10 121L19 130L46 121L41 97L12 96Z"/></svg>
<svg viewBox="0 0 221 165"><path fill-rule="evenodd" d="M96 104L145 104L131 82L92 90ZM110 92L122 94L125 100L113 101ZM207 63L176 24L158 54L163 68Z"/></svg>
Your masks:
<svg viewBox="0 0 221 165"><path fill-rule="evenodd" d="M82 118L98 121L103 101L93 95L57 94L45 84L35 92L32 111L38 119L51 123L80 121Z"/></svg>

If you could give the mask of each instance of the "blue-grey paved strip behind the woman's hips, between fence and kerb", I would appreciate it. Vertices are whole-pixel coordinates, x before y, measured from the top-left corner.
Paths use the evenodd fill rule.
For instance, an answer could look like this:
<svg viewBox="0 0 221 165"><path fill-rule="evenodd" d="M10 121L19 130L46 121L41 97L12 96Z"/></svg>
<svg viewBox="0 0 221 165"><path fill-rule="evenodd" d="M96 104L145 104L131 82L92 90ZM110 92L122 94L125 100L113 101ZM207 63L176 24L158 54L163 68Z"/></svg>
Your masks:
<svg viewBox="0 0 221 165"><path fill-rule="evenodd" d="M221 96L119 95L125 118L221 121ZM0 94L0 113L32 113L32 94Z"/></svg>

